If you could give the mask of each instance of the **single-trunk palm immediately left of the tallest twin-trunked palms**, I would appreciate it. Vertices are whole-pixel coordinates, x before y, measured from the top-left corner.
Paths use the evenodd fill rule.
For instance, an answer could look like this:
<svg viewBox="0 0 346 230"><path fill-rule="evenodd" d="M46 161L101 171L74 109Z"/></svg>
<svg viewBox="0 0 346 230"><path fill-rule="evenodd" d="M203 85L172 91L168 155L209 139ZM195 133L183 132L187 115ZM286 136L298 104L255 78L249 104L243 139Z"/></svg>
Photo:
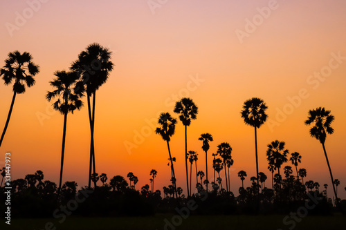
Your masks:
<svg viewBox="0 0 346 230"><path fill-rule="evenodd" d="M62 159L60 163L60 180L59 188L57 189L57 195L59 197L60 190L62 188L62 171L64 168L64 152L65 152L65 139L66 139L66 124L67 114L73 113L75 109L80 110L83 103L80 100L80 96L73 93L73 86L78 80L78 75L74 72L57 71L54 73L57 77L51 81L51 86L55 88L53 91L49 91L46 94L46 99L51 102L52 99L57 98L53 104L53 108L64 115L64 129L62 132Z"/></svg>

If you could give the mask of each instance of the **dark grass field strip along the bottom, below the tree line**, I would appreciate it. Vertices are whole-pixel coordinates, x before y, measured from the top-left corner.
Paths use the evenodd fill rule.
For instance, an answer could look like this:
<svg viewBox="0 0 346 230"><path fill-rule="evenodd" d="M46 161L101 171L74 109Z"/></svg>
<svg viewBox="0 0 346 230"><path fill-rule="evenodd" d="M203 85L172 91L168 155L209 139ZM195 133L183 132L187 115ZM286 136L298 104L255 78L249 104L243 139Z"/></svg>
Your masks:
<svg viewBox="0 0 346 230"><path fill-rule="evenodd" d="M190 216L186 219L175 218L175 222L170 226L166 223L172 223L173 215L155 215L150 217L138 218L78 218L67 217L62 223L57 219L13 219L11 226L5 224L4 220L0 223L0 229L49 229L49 230L156 230L156 229L289 229L293 227L293 219L289 219L289 224L284 224L284 215L206 215ZM51 222L52 224L47 224ZM300 222L295 222L293 229L345 229L346 217L342 215L334 216L308 216L302 218Z"/></svg>

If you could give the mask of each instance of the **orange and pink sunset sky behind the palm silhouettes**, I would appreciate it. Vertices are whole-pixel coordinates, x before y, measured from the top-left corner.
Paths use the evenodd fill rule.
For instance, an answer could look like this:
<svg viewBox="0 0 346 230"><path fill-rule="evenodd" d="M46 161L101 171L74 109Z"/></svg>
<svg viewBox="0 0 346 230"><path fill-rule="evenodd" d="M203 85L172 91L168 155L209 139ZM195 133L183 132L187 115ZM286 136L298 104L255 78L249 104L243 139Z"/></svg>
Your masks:
<svg viewBox="0 0 346 230"><path fill-rule="evenodd" d="M211 181L212 153L221 142L230 143L235 162L231 190L237 194L242 184L237 172L248 173L245 186L255 175L254 130L244 124L240 111L246 99L260 97L269 116L257 132L266 185L271 186L266 145L280 140L290 152L302 155L298 168L307 169L304 181L319 182L321 190L329 184L331 195L322 146L304 125L309 109L323 106L335 116L335 132L327 136L325 145L334 178L340 180L338 194L346 198L346 1L42 1L2 1L0 8L0 66L14 50L30 52L40 66L35 86L17 95L0 148L3 159L7 152L12 155L13 179L42 170L45 180L58 182L64 117L44 96L52 90L53 73L68 70L86 46L98 42L112 50L115 64L97 91L99 174L107 173L110 179L131 171L138 176L136 189L140 189L149 184L149 172L156 169L155 189L168 186L167 145L154 128L159 113L178 118L174 103L190 97L199 114L188 127L188 150L199 153L198 167L205 171L198 137L212 134ZM0 94L2 132L12 99L12 85L5 86L2 79ZM63 177L63 182L75 180L80 186L87 184L89 171L85 98L84 102L81 111L68 116ZM126 147L129 143L133 148ZM170 144L177 186L185 191L180 121Z"/></svg>

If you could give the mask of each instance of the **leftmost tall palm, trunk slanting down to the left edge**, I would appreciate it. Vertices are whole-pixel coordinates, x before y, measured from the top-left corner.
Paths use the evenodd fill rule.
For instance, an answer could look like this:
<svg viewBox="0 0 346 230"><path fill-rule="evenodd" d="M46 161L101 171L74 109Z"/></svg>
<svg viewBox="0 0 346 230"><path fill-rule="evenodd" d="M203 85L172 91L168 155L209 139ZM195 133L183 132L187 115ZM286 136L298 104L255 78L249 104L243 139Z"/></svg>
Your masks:
<svg viewBox="0 0 346 230"><path fill-rule="evenodd" d="M0 76L6 86L14 81L12 86L13 97L10 106L10 111L8 111L8 116L6 119L5 127L0 138L0 146L5 137L5 133L10 122L10 117L12 114L12 109L15 104L15 99L17 94L25 93L26 87L30 88L35 84L34 76L39 73L39 66L33 63L33 57L28 52L19 51L10 52L8 54L8 59L5 60L5 66L0 69Z"/></svg>

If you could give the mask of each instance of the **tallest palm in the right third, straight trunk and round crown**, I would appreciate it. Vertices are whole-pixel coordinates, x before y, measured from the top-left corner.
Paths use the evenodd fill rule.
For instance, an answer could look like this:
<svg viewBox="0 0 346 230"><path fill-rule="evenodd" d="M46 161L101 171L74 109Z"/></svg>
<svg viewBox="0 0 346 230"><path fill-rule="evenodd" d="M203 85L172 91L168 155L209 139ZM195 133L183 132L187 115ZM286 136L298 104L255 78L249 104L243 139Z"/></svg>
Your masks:
<svg viewBox="0 0 346 230"><path fill-rule="evenodd" d="M244 119L245 124L249 126L253 126L255 128L255 155L256 155L256 177L257 184L259 183L258 176L258 154L257 154L257 128L260 128L268 115L266 115L266 109L268 107L264 103L264 101L260 98L253 97L244 102L243 110L241 112L242 118ZM258 191L257 191L258 193Z"/></svg>

